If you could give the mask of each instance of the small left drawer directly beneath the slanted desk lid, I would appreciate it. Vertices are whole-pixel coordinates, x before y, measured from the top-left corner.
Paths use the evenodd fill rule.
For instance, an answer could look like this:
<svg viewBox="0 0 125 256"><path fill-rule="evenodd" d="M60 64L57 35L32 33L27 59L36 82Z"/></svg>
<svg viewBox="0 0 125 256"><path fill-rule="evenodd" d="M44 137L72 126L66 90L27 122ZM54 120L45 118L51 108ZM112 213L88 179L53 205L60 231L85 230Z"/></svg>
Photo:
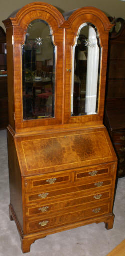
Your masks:
<svg viewBox="0 0 125 256"><path fill-rule="evenodd" d="M25 179L25 191L38 191L41 187L56 187L57 185L64 185L71 182L71 173L42 175Z"/></svg>

